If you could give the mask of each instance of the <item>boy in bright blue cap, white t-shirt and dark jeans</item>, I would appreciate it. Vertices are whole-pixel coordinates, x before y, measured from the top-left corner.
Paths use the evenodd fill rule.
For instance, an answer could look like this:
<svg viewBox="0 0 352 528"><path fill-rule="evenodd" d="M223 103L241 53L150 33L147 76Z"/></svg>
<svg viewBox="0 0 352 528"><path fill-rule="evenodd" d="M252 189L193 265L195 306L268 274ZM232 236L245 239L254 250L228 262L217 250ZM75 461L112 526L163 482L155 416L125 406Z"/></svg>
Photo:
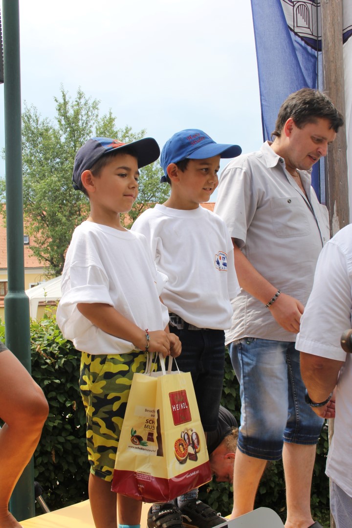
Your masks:
<svg viewBox="0 0 352 528"><path fill-rule="evenodd" d="M240 292L233 244L223 220L199 206L218 184L221 158L241 154L238 145L215 143L202 130L188 129L170 138L160 157L162 182L171 186L169 199L142 213L132 226L147 238L157 268L168 276L161 298L170 316L170 332L178 335L183 353L180 370L191 372L204 431L217 427L224 376L224 330L231 327L230 297ZM180 528L188 499L194 516L187 526L211 528L224 520L196 499L197 491L172 504L154 505L148 526Z"/></svg>

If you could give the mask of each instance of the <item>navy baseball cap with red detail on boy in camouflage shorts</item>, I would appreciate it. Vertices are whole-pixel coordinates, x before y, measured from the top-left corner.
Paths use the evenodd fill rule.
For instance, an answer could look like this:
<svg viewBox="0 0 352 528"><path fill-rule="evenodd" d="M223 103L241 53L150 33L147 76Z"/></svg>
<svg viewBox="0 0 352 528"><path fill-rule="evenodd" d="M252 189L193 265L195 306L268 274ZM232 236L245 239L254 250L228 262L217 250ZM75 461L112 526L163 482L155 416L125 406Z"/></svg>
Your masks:
<svg viewBox="0 0 352 528"><path fill-rule="evenodd" d="M82 172L89 171L94 163L97 163L98 159L111 152L111 150L126 147L133 147L138 159L138 168L155 162L160 155L159 145L152 137L145 137L131 143L122 143L118 139L111 139L109 137L93 137L84 143L74 158L72 174L73 188L76 191L82 191Z"/></svg>

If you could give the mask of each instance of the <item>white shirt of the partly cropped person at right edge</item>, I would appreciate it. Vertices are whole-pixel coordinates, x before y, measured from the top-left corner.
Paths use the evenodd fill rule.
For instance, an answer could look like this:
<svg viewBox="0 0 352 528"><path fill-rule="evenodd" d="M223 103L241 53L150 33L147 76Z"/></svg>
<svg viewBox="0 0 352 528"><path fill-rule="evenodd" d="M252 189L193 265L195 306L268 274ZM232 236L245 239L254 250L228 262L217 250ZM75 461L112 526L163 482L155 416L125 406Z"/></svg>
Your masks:
<svg viewBox="0 0 352 528"><path fill-rule="evenodd" d="M352 497L352 361L340 346L352 322L352 224L341 229L321 251L312 293L302 315L296 348L345 361L336 392L334 436L326 474Z"/></svg>

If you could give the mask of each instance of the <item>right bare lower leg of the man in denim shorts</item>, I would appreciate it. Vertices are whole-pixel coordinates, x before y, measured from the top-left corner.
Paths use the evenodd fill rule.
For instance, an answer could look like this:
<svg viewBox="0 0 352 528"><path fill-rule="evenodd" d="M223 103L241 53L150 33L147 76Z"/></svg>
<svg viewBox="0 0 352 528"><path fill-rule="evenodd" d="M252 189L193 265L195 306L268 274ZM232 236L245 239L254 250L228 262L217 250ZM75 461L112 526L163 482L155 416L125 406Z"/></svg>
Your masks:
<svg viewBox="0 0 352 528"><path fill-rule="evenodd" d="M287 500L285 528L308 528L314 522L310 512L310 488L315 456L315 445L283 442L282 460Z"/></svg>

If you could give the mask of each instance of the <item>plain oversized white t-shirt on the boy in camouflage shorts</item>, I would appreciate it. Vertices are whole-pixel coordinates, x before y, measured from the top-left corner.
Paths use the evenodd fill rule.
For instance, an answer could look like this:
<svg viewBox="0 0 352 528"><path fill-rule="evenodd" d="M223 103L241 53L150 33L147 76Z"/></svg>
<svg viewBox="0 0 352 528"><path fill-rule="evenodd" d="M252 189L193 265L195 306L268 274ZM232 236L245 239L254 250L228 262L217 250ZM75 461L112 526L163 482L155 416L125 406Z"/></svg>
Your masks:
<svg viewBox="0 0 352 528"><path fill-rule="evenodd" d="M159 295L166 281L156 269L145 237L83 222L74 230L62 274L56 320L63 336L89 354L134 350L134 344L93 325L77 304L108 304L139 328L164 330L169 317Z"/></svg>

